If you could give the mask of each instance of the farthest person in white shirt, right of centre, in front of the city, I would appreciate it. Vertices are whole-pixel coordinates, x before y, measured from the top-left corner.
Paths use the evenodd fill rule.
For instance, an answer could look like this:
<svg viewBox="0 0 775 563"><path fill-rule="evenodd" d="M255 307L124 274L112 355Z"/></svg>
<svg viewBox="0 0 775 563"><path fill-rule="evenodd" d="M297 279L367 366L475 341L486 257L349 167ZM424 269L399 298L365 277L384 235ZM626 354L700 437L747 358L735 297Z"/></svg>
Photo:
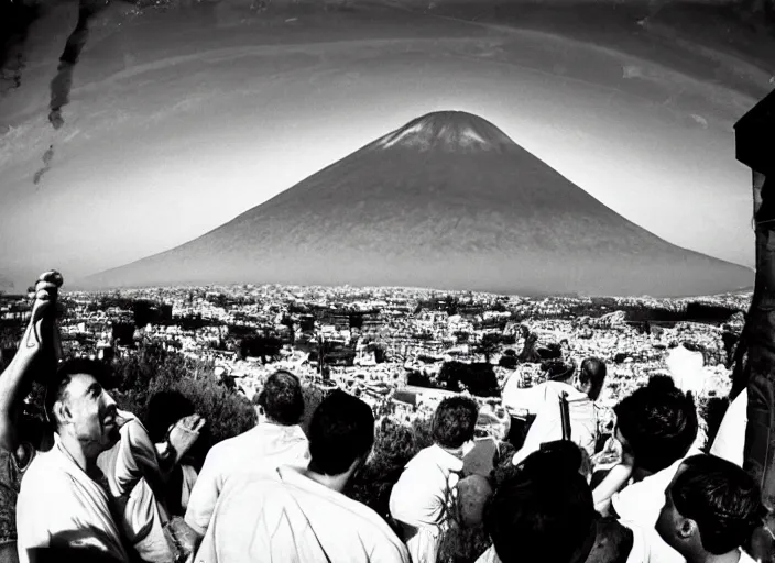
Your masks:
<svg viewBox="0 0 775 563"><path fill-rule="evenodd" d="M519 389L506 384L503 390L503 404L512 411L522 409L535 415L525 442L514 454L514 465L520 464L542 443L563 438L563 420L559 399L567 394L570 415L570 439L583 448L591 456L600 435L598 411L594 405L605 380L605 364L594 357L588 357L576 373L572 364L557 379L548 380ZM513 378L513 376L512 376Z"/></svg>

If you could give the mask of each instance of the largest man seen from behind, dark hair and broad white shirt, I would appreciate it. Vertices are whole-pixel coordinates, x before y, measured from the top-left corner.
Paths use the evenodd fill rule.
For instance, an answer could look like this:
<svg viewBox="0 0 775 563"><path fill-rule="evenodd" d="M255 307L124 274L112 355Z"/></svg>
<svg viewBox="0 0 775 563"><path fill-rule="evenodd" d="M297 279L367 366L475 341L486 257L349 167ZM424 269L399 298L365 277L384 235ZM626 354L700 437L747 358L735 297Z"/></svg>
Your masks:
<svg viewBox="0 0 775 563"><path fill-rule="evenodd" d="M408 563L406 547L371 508L341 492L374 442L367 404L341 390L318 406L307 468L280 466L227 483L196 563Z"/></svg>

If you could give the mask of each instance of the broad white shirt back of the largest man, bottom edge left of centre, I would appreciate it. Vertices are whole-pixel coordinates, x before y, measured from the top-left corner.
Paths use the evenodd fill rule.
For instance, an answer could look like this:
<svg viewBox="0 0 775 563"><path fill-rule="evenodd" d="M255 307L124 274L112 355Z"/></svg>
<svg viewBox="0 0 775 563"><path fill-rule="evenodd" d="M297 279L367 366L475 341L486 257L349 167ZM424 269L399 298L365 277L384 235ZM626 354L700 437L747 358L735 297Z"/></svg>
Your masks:
<svg viewBox="0 0 775 563"><path fill-rule="evenodd" d="M194 563L410 563L376 512L301 471L227 484Z"/></svg>

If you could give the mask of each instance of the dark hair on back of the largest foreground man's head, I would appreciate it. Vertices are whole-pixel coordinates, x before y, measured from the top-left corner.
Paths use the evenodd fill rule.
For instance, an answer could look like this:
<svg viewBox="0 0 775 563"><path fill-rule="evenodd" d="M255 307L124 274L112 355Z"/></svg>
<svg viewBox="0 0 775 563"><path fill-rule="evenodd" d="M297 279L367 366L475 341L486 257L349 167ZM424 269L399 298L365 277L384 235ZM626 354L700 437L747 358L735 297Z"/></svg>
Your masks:
<svg viewBox="0 0 775 563"><path fill-rule="evenodd" d="M309 423L310 468L341 475L369 454L374 443L374 415L369 405L341 389L323 399Z"/></svg>

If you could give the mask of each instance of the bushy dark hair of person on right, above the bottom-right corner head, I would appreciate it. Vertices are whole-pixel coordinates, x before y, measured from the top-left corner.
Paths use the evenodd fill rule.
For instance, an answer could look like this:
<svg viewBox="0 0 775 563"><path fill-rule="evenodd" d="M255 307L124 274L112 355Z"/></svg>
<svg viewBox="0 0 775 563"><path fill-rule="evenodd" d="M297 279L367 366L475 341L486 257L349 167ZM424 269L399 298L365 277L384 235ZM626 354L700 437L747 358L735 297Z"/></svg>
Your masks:
<svg viewBox="0 0 775 563"><path fill-rule="evenodd" d="M669 376L653 376L613 410L635 462L652 473L684 457L697 438L695 401Z"/></svg>

